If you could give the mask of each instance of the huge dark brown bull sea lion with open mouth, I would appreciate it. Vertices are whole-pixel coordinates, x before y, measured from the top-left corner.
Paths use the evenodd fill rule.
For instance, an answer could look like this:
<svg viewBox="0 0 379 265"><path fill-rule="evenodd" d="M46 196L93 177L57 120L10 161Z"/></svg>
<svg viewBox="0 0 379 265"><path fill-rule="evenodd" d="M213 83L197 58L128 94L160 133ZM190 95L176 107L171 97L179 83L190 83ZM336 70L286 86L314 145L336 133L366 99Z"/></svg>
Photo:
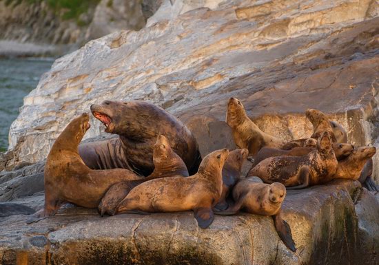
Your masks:
<svg viewBox="0 0 379 265"><path fill-rule="evenodd" d="M154 170L154 143L156 137L163 134L189 173L196 173L201 162L196 138L180 120L161 107L141 100L105 100L101 105L91 105L91 112L105 125L105 132L118 134L119 138L80 145L79 154L88 167L130 169L149 176Z"/></svg>

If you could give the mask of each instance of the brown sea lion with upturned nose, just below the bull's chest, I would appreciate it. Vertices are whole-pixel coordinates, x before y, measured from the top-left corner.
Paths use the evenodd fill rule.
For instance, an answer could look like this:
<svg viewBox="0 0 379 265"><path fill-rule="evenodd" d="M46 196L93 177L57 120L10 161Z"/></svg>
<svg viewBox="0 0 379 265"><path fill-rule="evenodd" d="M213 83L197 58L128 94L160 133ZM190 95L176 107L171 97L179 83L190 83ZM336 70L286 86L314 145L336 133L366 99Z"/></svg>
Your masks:
<svg viewBox="0 0 379 265"><path fill-rule="evenodd" d="M114 184L99 204L99 213L114 215L117 205L126 197L131 189L139 184L154 178L167 178L172 176L189 176L185 163L170 147L170 142L163 135L156 138L153 151L154 171L153 173L141 180L123 181Z"/></svg>

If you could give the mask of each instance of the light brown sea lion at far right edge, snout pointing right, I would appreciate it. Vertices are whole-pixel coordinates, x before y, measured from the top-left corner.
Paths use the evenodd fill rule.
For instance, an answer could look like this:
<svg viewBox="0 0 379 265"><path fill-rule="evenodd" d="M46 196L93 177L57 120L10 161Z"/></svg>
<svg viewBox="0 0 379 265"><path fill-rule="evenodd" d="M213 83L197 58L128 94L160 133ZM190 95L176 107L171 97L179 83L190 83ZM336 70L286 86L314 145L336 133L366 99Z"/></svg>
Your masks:
<svg viewBox="0 0 379 265"><path fill-rule="evenodd" d="M358 147L347 158L338 162L338 168L334 178L347 178L358 180L362 169L376 153L375 147Z"/></svg>

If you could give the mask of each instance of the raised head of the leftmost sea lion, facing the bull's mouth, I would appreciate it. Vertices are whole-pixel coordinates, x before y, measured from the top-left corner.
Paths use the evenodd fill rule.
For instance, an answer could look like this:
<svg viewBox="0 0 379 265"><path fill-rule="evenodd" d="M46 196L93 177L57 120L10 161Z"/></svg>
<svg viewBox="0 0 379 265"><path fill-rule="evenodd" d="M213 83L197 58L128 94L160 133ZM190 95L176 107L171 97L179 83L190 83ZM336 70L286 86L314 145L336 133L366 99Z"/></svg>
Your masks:
<svg viewBox="0 0 379 265"><path fill-rule="evenodd" d="M90 116L83 113L81 116L74 118L65 127L59 138L57 138L57 141L61 142L65 147L68 147L68 145L77 147L83 139L84 134L90 129L90 126Z"/></svg>

